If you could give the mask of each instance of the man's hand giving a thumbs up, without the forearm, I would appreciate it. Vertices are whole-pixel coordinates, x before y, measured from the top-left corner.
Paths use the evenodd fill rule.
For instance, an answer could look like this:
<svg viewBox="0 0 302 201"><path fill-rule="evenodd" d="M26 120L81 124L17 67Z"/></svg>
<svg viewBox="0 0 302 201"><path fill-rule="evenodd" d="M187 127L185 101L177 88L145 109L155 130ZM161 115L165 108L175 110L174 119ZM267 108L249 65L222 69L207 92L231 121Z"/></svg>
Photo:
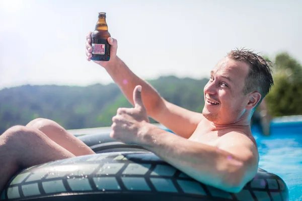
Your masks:
<svg viewBox="0 0 302 201"><path fill-rule="evenodd" d="M110 137L126 144L143 145L149 119L141 99L141 86L133 90L134 108L118 108Z"/></svg>

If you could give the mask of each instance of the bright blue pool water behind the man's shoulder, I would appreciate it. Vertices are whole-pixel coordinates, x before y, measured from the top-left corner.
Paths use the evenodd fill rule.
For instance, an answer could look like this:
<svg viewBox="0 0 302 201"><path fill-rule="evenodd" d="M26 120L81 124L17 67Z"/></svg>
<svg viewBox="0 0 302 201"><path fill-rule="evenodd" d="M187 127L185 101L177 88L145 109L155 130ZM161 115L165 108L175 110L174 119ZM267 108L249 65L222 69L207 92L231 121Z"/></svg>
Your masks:
<svg viewBox="0 0 302 201"><path fill-rule="evenodd" d="M289 190L289 200L302 200L302 121L272 123L271 136L252 133L260 154L259 167L280 176Z"/></svg>

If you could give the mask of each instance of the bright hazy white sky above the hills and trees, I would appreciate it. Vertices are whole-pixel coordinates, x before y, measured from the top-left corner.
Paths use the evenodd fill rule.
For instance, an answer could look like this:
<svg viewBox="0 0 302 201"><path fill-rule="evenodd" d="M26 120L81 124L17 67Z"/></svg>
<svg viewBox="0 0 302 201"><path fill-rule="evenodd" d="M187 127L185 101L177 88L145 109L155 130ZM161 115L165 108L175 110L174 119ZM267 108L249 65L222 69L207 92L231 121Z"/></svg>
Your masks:
<svg viewBox="0 0 302 201"><path fill-rule="evenodd" d="M112 83L86 60L86 34L106 12L117 55L142 79L209 77L234 48L302 63L302 1L0 0L0 90Z"/></svg>

